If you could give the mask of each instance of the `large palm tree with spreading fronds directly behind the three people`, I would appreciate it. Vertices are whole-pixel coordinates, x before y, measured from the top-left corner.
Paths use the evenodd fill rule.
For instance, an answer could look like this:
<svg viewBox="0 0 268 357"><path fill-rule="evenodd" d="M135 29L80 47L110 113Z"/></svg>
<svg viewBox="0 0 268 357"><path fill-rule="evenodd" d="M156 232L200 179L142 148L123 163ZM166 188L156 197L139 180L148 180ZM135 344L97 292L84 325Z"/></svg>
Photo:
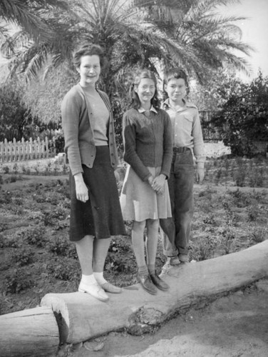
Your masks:
<svg viewBox="0 0 268 357"><path fill-rule="evenodd" d="M240 41L239 28L234 25L242 18L226 18L215 12L217 5L235 0L68 1L66 6L76 17L53 11L41 18L53 31L52 38L29 41L26 31L20 31L1 46L5 54L14 54L11 73L21 71L31 79L46 66L45 74L49 74L56 66L71 62L78 43L98 43L109 60L101 85L120 113L127 87L124 74L135 66L155 73L159 66L182 66L200 81L210 69L226 64L247 71L247 62L233 53L236 49L249 54L250 47Z"/></svg>

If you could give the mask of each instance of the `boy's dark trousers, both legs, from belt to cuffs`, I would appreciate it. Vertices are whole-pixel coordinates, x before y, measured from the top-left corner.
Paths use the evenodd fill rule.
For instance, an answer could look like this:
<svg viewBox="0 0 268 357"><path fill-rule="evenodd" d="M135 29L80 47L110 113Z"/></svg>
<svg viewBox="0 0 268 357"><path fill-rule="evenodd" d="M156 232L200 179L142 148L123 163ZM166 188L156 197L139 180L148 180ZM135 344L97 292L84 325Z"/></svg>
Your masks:
<svg viewBox="0 0 268 357"><path fill-rule="evenodd" d="M172 218L160 219L165 256L188 254L193 216L194 165L192 151L174 152L168 179ZM175 151L175 149L174 149Z"/></svg>

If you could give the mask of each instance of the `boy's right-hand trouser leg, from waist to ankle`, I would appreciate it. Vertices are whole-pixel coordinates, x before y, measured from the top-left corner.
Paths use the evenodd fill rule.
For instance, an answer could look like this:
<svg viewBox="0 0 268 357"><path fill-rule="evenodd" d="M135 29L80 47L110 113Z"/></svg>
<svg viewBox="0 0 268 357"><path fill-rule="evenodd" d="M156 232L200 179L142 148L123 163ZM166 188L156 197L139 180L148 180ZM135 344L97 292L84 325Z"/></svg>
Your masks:
<svg viewBox="0 0 268 357"><path fill-rule="evenodd" d="M188 261L189 239L193 216L194 167L192 153L186 151L175 161L175 246L180 261Z"/></svg>

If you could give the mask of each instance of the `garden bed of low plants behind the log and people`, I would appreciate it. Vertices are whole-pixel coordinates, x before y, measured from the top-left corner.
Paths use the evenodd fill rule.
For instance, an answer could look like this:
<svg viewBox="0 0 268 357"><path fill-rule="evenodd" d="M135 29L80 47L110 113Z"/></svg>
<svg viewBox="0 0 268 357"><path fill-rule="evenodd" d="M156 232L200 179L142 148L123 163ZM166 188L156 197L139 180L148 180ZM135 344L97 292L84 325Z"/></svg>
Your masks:
<svg viewBox="0 0 268 357"><path fill-rule="evenodd" d="M239 165L240 161L227 158L208 161L205 182L195 185L191 261L239 251L267 239L267 161L253 159ZM235 178L242 170L247 174L239 181L242 187L237 187ZM1 314L36 307L46 293L78 288L80 267L75 247L68 242L68 174L36 174L0 176ZM253 177L262 180L253 182ZM256 187L246 186L250 179ZM113 238L105 263L106 278L118 286L135 283L130 224L126 228L128 236ZM158 271L163 263L159 240Z"/></svg>

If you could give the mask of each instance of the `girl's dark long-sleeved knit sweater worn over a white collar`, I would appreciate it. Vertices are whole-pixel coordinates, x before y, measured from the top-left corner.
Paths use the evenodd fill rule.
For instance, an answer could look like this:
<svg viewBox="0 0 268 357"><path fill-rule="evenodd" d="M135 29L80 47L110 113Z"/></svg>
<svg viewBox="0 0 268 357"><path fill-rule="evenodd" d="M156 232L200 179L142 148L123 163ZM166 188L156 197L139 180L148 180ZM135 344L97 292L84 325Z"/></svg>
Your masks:
<svg viewBox="0 0 268 357"><path fill-rule="evenodd" d="M130 109L123 116L124 160L143 181L149 167L161 167L160 174L170 176L172 161L172 126L162 109L150 114Z"/></svg>

